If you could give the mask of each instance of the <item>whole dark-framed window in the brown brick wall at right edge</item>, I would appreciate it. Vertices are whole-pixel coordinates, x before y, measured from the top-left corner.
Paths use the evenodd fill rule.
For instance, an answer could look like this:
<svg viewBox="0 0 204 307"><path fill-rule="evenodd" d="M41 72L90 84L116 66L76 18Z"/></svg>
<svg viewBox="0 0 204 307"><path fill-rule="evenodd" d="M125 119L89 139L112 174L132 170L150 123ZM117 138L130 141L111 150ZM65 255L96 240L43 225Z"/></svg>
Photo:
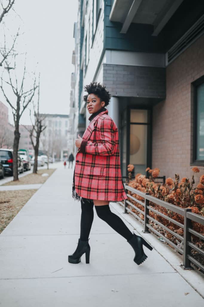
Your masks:
<svg viewBox="0 0 204 307"><path fill-rule="evenodd" d="M193 163L204 164L204 76L193 82Z"/></svg>

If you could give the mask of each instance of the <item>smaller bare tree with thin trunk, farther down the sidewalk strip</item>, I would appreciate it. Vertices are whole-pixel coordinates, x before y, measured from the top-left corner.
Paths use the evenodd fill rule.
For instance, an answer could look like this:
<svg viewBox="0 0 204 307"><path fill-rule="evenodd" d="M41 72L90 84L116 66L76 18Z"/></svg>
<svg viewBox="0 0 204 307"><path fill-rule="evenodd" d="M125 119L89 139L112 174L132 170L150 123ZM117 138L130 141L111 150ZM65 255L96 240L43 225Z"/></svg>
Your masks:
<svg viewBox="0 0 204 307"><path fill-rule="evenodd" d="M43 132L43 130L46 129L46 126L43 125L45 117L42 117L42 115L39 114L39 97L40 97L40 74L39 74L39 85L38 85L37 111L35 110L35 105L33 103L35 123L32 123L32 130L30 130L30 139L35 152L35 160L33 166L33 173L35 174L37 173L38 170L38 150L39 150L40 134ZM30 110L30 118L31 118L31 110ZM33 138L35 138L35 142L33 141Z"/></svg>

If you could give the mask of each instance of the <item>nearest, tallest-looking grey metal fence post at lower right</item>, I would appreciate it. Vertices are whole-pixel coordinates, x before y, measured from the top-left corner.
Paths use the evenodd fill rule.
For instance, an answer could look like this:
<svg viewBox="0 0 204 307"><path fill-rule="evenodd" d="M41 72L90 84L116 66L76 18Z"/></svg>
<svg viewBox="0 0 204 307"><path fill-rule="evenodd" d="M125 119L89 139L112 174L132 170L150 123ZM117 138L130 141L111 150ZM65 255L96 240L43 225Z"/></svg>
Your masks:
<svg viewBox="0 0 204 307"><path fill-rule="evenodd" d="M183 254L183 265L181 265L184 270L193 270L191 267L191 261L188 259L188 255L191 254L191 247L188 242L191 242L191 233L188 228L192 227L191 220L187 218L187 212L191 212L191 209L184 209L184 254Z"/></svg>

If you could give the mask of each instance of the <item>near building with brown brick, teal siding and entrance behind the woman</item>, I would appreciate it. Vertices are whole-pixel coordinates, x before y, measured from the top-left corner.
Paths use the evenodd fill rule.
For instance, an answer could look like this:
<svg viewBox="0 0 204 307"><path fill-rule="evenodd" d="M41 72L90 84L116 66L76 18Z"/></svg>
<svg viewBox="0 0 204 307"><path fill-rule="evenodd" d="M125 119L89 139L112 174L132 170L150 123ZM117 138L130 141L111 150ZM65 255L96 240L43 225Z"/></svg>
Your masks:
<svg viewBox="0 0 204 307"><path fill-rule="evenodd" d="M83 86L105 84L120 134L122 174L204 173L204 2L79 0L74 133L88 125ZM198 180L198 177L196 178Z"/></svg>

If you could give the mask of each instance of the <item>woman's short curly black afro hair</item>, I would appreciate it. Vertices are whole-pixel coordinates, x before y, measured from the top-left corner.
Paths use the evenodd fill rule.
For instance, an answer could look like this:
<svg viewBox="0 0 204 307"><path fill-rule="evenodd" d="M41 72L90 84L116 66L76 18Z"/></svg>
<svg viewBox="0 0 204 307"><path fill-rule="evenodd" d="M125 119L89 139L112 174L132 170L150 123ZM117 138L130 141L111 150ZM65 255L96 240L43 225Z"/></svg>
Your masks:
<svg viewBox="0 0 204 307"><path fill-rule="evenodd" d="M84 86L84 90L88 93L83 96L83 100L86 102L89 94L97 95L101 101L105 101L105 106L109 104L110 94L109 91L106 90L104 85L101 85L100 82L91 82L89 85Z"/></svg>

